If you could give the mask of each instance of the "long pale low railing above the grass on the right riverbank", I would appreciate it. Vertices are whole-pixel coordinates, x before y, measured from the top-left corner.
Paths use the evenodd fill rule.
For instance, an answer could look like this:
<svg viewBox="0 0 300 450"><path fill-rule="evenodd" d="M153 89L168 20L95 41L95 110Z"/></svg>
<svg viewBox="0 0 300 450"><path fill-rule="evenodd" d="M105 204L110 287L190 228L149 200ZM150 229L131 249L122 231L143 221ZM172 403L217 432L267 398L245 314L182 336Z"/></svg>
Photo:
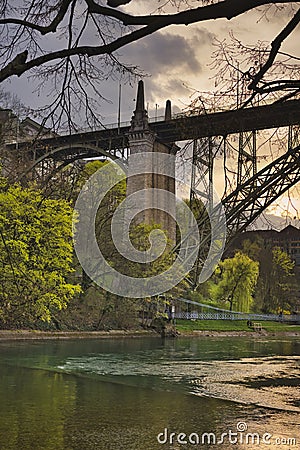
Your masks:
<svg viewBox="0 0 300 450"><path fill-rule="evenodd" d="M300 315L296 314L248 314L228 312L198 312L181 311L175 313L175 319L186 320L251 320L251 321L273 321L285 323L300 323Z"/></svg>

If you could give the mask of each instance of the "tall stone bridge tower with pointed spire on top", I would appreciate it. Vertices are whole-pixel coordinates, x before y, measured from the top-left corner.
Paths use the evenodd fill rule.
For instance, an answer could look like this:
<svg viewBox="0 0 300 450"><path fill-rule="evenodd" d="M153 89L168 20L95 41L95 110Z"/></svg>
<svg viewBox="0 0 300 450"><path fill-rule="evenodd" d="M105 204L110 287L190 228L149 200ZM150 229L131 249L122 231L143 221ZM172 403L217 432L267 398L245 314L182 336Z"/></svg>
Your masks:
<svg viewBox="0 0 300 450"><path fill-rule="evenodd" d="M171 103L166 104L165 120L171 119ZM148 114L145 110L144 83L138 84L136 109L131 119L129 131L130 156L139 155L138 174L136 163L129 157L127 197L138 191L142 191L143 205L136 205L136 209L142 207L143 211L135 217L136 223L159 224L168 234L170 240L176 240L175 220L175 153L177 146L174 143L162 143L151 130L148 122ZM168 158L165 155L172 155ZM144 161L144 163L143 163ZM167 174L157 173L164 163L168 165L163 171ZM165 198L164 194L158 195L152 189L174 194L172 200ZM132 205L135 208L135 205ZM173 217L172 217L173 215Z"/></svg>

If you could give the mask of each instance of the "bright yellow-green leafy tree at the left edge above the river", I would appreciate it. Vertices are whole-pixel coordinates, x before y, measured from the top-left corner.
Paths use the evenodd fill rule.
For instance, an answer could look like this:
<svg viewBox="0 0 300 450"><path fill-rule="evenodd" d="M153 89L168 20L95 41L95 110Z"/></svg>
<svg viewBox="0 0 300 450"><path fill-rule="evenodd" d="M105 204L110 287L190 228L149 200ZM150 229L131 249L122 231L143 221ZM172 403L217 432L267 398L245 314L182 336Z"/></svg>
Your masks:
<svg viewBox="0 0 300 450"><path fill-rule="evenodd" d="M34 187L0 183L0 320L50 321L80 287L72 268L72 207Z"/></svg>

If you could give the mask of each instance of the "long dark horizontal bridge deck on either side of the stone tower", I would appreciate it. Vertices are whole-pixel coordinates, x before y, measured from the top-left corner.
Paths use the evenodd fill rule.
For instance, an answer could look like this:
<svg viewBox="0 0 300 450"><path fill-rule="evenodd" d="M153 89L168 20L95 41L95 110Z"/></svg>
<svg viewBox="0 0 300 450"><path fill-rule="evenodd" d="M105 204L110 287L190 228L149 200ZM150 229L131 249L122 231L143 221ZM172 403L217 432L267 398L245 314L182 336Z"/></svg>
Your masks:
<svg viewBox="0 0 300 450"><path fill-rule="evenodd" d="M162 142L176 142L208 136L226 136L241 131L263 130L300 124L300 100L264 105L242 110L232 110L197 116L183 116L169 121L150 123L150 128ZM39 155L50 148L69 147L76 144L91 144L106 151L124 148L128 145L129 126L118 129L107 128L86 133L41 139L34 143ZM18 148L28 148L33 143L18 143ZM15 149L15 144L7 146Z"/></svg>

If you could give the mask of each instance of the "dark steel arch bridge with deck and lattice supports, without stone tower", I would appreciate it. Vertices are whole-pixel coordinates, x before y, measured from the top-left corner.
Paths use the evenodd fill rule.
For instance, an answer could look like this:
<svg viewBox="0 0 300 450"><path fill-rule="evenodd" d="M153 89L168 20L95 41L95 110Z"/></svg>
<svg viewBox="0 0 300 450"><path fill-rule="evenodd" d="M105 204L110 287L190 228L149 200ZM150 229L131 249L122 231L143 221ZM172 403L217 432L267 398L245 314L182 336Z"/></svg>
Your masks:
<svg viewBox="0 0 300 450"><path fill-rule="evenodd" d="M219 149L226 146L228 137L238 135L237 187L226 193L222 203L225 208L228 241L244 230L281 194L300 181L299 161L300 100L264 105L197 116L164 117L150 122L149 127L163 143L193 140L193 163L196 170L191 177L191 200L196 200L199 177L213 181L215 144L220 137ZM257 172L256 131L289 127L286 152ZM83 158L107 157L126 159L128 155L129 124L106 129L58 136L33 142L6 146L7 154L26 154L30 164L21 177L47 160L55 162L54 173L66 165ZM218 149L217 149L218 151ZM48 174L49 176L49 174ZM196 194L195 194L196 193ZM218 220L220 211L213 214ZM204 264L204 254L210 241L206 218L199 217L203 233L199 251L198 269ZM196 251L196 250L195 250ZM196 269L196 275L198 272Z"/></svg>

